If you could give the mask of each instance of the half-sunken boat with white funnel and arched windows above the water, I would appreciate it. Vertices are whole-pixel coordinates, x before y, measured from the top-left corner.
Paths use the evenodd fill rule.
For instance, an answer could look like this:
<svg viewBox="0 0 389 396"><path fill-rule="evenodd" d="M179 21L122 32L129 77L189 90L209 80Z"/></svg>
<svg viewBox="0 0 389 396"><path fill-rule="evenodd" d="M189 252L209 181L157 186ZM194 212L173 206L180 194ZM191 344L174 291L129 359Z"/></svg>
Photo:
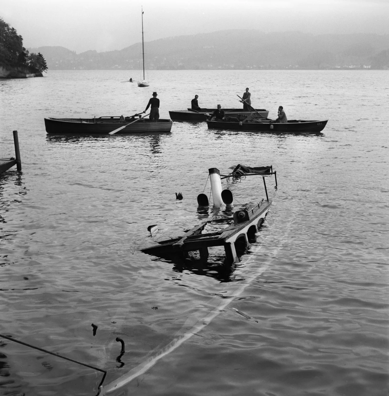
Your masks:
<svg viewBox="0 0 389 396"><path fill-rule="evenodd" d="M276 180L276 172L273 172L272 166L249 168L241 165L236 166L228 175L221 175L217 168L210 168L208 171L214 207L221 207L224 204L232 215L203 221L178 238L162 240L154 246L141 249L143 253L168 259L186 259L190 252L198 251L200 259L207 261L210 247L223 246L225 263L239 262L238 251L242 251L242 246L247 247L250 242L255 241L256 233L272 203L267 194L265 176L275 175ZM228 189L222 190L221 179L258 175L263 177L266 199L262 198L254 205L242 206L233 212L232 192ZM199 194L197 202L199 207L209 205L205 194ZM208 232L207 228L209 228Z"/></svg>

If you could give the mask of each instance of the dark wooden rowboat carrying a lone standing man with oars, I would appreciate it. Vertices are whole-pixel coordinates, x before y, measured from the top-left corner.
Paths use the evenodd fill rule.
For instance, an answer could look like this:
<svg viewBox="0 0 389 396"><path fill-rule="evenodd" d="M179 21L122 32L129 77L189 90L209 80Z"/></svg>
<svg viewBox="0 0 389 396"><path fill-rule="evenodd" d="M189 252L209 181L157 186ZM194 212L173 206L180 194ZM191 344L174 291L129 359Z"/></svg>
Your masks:
<svg viewBox="0 0 389 396"><path fill-rule="evenodd" d="M62 134L93 134L109 133L114 129L126 126L117 133L153 133L153 132L170 132L172 129L172 120L160 119L152 122L149 118L132 118L132 117L99 117L99 118L45 118L45 127L47 133Z"/></svg>

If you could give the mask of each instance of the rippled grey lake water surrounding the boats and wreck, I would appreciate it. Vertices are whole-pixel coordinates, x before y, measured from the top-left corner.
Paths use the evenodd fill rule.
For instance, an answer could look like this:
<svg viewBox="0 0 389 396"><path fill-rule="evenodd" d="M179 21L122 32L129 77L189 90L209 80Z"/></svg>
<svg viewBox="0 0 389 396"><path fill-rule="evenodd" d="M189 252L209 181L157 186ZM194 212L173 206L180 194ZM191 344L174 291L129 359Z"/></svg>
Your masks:
<svg viewBox="0 0 389 396"><path fill-rule="evenodd" d="M16 129L22 160L0 177L0 334L106 370L104 386L133 370L114 396L387 395L389 72L154 71L149 88L122 82L137 76L0 81L0 157L14 156ZM44 127L48 116L132 115L153 91L161 118L195 94L201 107L240 107L246 87L270 118L279 105L290 119L328 118L323 134L174 122L168 134L64 137ZM220 251L207 264L139 251L217 215L196 197L210 192L209 168L237 164L273 165L278 182L267 178L273 205L238 265ZM227 187L236 209L265 196L261 177ZM193 324L193 337L153 361ZM0 342L1 395L97 393L101 372Z"/></svg>

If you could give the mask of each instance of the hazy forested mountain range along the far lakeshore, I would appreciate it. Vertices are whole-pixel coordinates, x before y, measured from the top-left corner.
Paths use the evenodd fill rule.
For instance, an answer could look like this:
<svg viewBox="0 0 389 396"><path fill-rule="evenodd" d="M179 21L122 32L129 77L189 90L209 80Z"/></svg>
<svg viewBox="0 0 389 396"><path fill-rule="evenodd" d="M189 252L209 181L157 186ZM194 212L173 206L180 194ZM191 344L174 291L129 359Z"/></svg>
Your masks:
<svg viewBox="0 0 389 396"><path fill-rule="evenodd" d="M141 69L141 43L80 54L63 47L28 50L42 53L49 70ZM389 35L223 30L146 42L145 63L148 70L389 69Z"/></svg>

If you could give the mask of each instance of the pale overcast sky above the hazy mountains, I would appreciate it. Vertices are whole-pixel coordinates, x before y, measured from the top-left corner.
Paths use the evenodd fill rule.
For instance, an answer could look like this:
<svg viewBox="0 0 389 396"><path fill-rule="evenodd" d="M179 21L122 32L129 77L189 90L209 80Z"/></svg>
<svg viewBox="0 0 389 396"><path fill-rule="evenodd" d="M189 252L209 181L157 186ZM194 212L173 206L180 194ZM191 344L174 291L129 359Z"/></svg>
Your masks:
<svg viewBox="0 0 389 396"><path fill-rule="evenodd" d="M224 29L389 34L389 0L1 0L23 46L76 53Z"/></svg>

